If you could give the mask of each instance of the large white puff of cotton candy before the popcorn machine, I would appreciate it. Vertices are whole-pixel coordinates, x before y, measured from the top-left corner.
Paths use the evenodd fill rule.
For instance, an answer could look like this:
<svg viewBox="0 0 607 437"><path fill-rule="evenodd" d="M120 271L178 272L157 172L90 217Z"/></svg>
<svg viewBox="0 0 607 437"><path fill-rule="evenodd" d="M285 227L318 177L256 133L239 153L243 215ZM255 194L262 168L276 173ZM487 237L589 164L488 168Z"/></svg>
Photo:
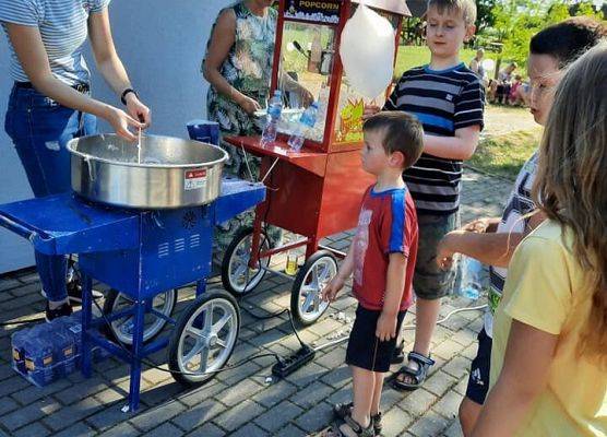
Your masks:
<svg viewBox="0 0 607 437"><path fill-rule="evenodd" d="M344 26L340 56L348 83L364 96L377 97L392 81L394 38L392 24L364 4Z"/></svg>

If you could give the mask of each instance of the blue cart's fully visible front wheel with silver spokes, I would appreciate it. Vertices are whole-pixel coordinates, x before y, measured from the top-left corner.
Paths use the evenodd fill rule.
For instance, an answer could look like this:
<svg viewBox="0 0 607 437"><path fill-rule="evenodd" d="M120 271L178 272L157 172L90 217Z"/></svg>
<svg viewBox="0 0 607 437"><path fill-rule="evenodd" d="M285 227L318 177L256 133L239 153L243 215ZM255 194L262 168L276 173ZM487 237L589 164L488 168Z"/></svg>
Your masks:
<svg viewBox="0 0 607 437"><path fill-rule="evenodd" d="M168 345L172 377L186 385L209 381L228 362L240 328L236 299L225 292L205 293L179 316Z"/></svg>

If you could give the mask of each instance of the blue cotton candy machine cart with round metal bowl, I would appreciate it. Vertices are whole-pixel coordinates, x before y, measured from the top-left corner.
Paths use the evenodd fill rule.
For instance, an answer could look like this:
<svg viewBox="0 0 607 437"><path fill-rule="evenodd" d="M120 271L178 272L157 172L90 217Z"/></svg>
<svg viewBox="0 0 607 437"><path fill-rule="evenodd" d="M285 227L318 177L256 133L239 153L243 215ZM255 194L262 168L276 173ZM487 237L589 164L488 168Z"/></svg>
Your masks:
<svg viewBox="0 0 607 437"><path fill-rule="evenodd" d="M143 137L142 146L138 163L136 145L115 135L73 140L78 194L0 205L0 226L37 251L78 253L82 371L91 376L95 345L127 362L131 380L124 411L138 409L142 361L160 349L168 346L169 368L186 383L206 381L229 359L240 317L233 296L205 293L213 233L265 196L262 184L222 179L227 156L211 144ZM93 280L111 288L103 317L93 316ZM177 288L190 283L197 284L197 299L174 319ZM166 323L175 326L170 334L154 339ZM104 334L109 327L110 338Z"/></svg>

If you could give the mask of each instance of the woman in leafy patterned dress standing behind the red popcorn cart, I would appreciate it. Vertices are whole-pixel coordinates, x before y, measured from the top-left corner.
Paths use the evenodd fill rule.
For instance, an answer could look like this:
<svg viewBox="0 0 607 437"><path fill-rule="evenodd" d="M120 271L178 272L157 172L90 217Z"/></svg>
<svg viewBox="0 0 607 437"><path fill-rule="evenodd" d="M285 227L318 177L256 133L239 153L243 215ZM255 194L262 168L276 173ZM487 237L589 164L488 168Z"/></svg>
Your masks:
<svg viewBox="0 0 607 437"><path fill-rule="evenodd" d="M251 135L261 133L254 111L266 105L270 98L270 81L274 58L274 39L277 12L271 8L274 0L242 0L222 10L209 39L201 72L209 81L206 95L207 118L219 123L223 134ZM310 93L297 82L281 74L281 87L298 91L302 101L311 102ZM254 178L259 178L260 158L222 141L229 153L225 172L250 179L249 166ZM216 232L218 250L222 253L242 226L251 225L252 212L238 215L218 226ZM270 227L270 238L277 241L279 229Z"/></svg>

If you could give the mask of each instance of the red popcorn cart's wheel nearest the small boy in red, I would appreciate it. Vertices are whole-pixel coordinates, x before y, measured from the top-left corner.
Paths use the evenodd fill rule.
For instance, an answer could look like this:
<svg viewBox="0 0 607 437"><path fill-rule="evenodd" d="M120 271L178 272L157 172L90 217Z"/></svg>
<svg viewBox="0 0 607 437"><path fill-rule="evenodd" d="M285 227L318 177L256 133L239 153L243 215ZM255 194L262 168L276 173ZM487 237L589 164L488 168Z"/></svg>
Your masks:
<svg viewBox="0 0 607 437"><path fill-rule="evenodd" d="M320 294L336 274L337 260L328 250L319 250L299 269L290 292L290 311L298 323L312 324L329 308Z"/></svg>

